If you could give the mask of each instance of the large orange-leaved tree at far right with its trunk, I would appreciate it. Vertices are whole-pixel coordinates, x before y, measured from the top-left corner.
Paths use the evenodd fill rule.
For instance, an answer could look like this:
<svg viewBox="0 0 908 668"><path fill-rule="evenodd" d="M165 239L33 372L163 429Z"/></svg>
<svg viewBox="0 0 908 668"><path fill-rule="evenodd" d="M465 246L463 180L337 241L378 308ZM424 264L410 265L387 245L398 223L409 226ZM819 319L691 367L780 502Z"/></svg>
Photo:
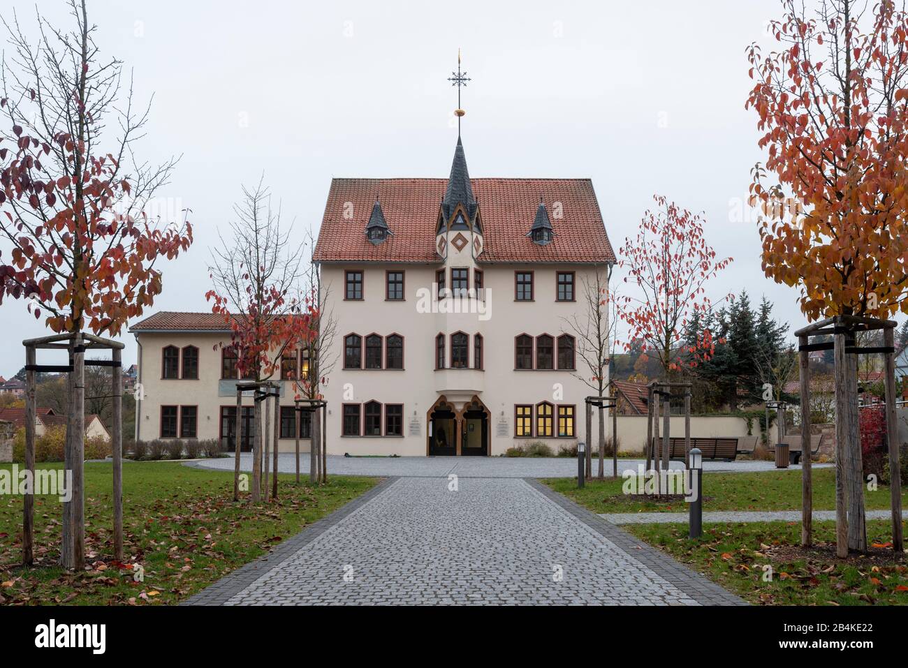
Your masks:
<svg viewBox="0 0 908 668"><path fill-rule="evenodd" d="M773 51L747 50L755 83L746 106L768 152L750 186L764 212L765 274L799 288L810 320L906 313L908 15L890 0L826 0L812 14L794 0L782 5L785 15L769 26ZM855 356L845 357L847 378L856 378ZM863 550L860 439L851 421L838 458L847 461L854 517L848 545Z"/></svg>

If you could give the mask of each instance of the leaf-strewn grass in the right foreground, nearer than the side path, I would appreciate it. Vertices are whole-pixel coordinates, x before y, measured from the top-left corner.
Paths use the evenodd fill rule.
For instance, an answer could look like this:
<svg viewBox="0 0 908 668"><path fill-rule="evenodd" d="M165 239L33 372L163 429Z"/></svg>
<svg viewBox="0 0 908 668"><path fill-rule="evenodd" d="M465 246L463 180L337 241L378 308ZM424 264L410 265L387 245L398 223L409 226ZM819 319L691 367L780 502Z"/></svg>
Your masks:
<svg viewBox="0 0 908 668"><path fill-rule="evenodd" d="M808 554L795 550L798 523L707 524L697 540L687 537L686 525L623 528L753 604L908 604L908 561L880 546L891 540L887 520L867 522L872 554L847 560L835 557L834 522L814 522L816 548ZM773 571L769 582L765 565Z"/></svg>

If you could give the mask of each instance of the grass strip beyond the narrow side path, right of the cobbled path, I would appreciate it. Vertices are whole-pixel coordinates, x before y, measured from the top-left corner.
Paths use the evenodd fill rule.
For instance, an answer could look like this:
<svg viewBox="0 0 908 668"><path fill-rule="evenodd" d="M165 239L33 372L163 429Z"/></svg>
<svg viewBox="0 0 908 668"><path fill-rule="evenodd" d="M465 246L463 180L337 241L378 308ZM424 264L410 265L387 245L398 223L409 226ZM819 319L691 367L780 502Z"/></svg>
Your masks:
<svg viewBox="0 0 908 668"><path fill-rule="evenodd" d="M577 489L576 478L549 478L543 480L556 492L568 496L580 506L594 513L662 513L686 512L687 504L641 500L622 494L622 478L587 480L583 489ZM835 509L835 470L815 468L814 510ZM703 476L703 509L709 510L800 510L801 471L766 471L762 473L706 473ZM867 509L889 507L889 487L879 486L870 492L864 490ZM904 503L904 493L903 493Z"/></svg>

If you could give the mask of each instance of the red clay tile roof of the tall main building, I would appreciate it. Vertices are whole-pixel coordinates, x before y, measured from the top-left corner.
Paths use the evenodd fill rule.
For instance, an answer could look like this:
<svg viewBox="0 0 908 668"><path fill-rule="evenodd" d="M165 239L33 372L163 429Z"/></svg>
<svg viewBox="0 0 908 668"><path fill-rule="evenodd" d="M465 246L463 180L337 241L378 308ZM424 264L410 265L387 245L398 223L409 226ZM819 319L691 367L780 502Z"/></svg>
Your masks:
<svg viewBox="0 0 908 668"><path fill-rule="evenodd" d="M471 179L485 233L480 262L614 262L602 213L589 179ZM439 262L435 226L447 179L333 179L321 221L316 261ZM393 236L366 239L376 195ZM555 240L546 246L526 234L539 196ZM561 202L562 218L553 215ZM353 215L344 218L344 212ZM345 206L347 207L345 209Z"/></svg>

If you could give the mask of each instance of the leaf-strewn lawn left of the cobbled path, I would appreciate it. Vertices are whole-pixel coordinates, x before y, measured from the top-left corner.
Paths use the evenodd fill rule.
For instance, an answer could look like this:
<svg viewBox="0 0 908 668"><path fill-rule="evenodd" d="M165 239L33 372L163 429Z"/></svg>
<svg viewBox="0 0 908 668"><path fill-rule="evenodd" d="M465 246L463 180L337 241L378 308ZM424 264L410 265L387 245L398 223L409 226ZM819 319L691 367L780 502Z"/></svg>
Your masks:
<svg viewBox="0 0 908 668"><path fill-rule="evenodd" d="M39 464L38 467L62 467ZM10 468L11 465L0 465ZM85 464L84 573L56 566L63 506L35 497L35 568L23 569L22 496L0 496L0 604L173 604L268 552L360 496L376 478L329 476L324 486L279 476L279 500L234 504L233 473L176 462L123 462L123 551L113 561L110 464ZM133 564L144 581L133 581Z"/></svg>

